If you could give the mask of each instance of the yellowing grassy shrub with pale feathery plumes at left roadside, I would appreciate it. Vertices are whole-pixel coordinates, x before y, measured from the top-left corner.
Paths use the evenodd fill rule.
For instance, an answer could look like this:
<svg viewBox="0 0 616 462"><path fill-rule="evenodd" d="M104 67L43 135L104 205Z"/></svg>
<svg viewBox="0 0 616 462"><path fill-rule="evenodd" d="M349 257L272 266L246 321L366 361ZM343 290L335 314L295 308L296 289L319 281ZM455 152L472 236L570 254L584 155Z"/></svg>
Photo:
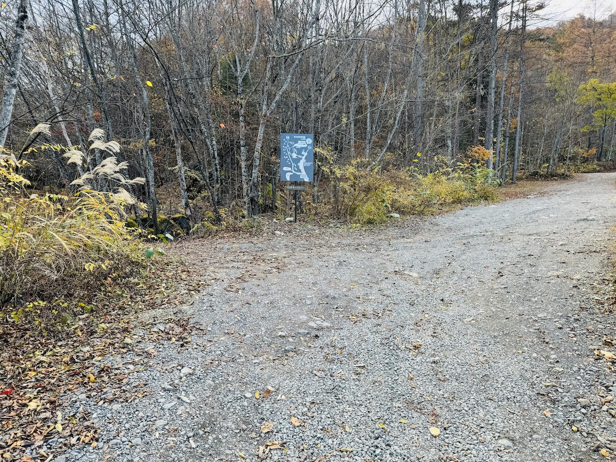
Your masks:
<svg viewBox="0 0 616 462"><path fill-rule="evenodd" d="M95 139L93 145L106 150L116 144ZM73 150L67 157L83 165L83 153ZM141 181L121 176L124 165L115 157L75 180L72 185L81 188L70 196L28 193L29 182L19 173L26 166L13 155L0 155L0 304L91 290L144 260L136 230L124 222L131 195L122 187L102 192L89 185Z"/></svg>

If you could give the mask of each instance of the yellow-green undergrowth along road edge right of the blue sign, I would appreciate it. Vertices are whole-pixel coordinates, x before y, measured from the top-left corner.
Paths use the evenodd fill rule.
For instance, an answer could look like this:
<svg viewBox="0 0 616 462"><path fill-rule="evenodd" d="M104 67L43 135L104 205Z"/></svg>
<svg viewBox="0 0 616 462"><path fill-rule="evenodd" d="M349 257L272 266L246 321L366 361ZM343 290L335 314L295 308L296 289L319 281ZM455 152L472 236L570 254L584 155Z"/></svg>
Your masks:
<svg viewBox="0 0 616 462"><path fill-rule="evenodd" d="M444 157L436 158L437 168L429 173L416 166L368 171L363 159L340 167L334 166L331 151L320 150L320 155L320 201L309 203L315 216L371 225L397 215L431 215L453 206L498 198L495 174L482 166L478 156L484 153L478 148L455 164ZM414 161L421 161L421 153Z"/></svg>

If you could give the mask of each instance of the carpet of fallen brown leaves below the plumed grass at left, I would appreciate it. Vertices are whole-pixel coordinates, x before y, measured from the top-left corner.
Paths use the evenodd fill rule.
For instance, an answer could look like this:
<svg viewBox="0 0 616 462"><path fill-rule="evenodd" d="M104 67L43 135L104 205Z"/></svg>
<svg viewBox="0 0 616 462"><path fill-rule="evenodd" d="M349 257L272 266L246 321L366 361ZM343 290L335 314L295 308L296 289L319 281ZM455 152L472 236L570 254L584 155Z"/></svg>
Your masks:
<svg viewBox="0 0 616 462"><path fill-rule="evenodd" d="M142 347L143 341L188 338L188 324L174 318L164 333L155 332L135 313L192 302L203 283L173 262L156 271L144 275L144 281L126 281L125 287L116 282L98 294L76 294L81 302L72 302L72 311L65 303L61 313L68 321L53 325L46 319L44 332L26 319L17 324L9 317L0 320L0 460L42 462L68 447L95 446L99 429L83 409L70 410L71 398L122 403L148 394L144 384L134 386L130 379L156 354ZM14 309L0 308L5 314ZM107 355L129 351L132 370L105 364ZM59 438L65 443L41 450Z"/></svg>

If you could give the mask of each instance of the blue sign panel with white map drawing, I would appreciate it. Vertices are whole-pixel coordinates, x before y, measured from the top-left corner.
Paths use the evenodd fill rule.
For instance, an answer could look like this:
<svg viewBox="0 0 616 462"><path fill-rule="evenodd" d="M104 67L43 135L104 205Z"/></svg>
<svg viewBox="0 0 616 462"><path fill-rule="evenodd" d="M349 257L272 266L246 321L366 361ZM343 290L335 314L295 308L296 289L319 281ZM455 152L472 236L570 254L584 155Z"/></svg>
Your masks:
<svg viewBox="0 0 616 462"><path fill-rule="evenodd" d="M306 133L280 134L280 180L312 181L314 136Z"/></svg>

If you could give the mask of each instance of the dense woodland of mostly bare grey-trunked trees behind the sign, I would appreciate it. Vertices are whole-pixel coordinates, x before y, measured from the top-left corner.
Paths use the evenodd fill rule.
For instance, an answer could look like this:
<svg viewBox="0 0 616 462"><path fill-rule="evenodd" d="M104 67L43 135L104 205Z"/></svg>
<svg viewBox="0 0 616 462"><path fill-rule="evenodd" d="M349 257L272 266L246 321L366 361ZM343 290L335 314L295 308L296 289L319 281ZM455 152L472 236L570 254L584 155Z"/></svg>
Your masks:
<svg viewBox="0 0 616 462"><path fill-rule="evenodd" d="M296 101L299 131L315 134L314 203L336 194L328 185L345 166L426 174L472 152L490 181L515 182L612 160L615 17L537 27L543 10L527 0L8 1L0 147L28 162L38 190L70 191L88 172L99 190L113 174L144 177L124 188L150 216L173 196L171 212L193 222L277 206L278 134L294 131ZM39 123L50 125L32 132Z"/></svg>

